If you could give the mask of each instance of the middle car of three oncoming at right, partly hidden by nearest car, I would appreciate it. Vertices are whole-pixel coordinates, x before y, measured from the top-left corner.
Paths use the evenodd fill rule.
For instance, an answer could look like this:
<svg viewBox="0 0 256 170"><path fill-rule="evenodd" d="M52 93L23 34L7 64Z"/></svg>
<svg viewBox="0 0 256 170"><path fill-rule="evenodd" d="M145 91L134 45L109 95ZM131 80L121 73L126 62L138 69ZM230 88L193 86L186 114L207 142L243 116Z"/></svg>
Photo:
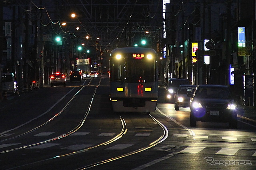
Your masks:
<svg viewBox="0 0 256 170"><path fill-rule="evenodd" d="M180 107L190 107L188 93L194 93L196 85L180 85L177 92L174 92L174 109L178 111Z"/></svg>

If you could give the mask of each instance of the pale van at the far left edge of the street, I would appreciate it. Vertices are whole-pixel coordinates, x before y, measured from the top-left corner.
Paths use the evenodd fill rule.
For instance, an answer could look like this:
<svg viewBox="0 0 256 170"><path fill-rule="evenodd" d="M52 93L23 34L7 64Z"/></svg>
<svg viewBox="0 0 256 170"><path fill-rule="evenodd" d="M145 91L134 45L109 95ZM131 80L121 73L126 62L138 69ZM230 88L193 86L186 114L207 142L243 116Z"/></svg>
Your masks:
<svg viewBox="0 0 256 170"><path fill-rule="evenodd" d="M12 93L13 95L17 90L17 83L14 80L14 75L9 72L2 73L2 91Z"/></svg>

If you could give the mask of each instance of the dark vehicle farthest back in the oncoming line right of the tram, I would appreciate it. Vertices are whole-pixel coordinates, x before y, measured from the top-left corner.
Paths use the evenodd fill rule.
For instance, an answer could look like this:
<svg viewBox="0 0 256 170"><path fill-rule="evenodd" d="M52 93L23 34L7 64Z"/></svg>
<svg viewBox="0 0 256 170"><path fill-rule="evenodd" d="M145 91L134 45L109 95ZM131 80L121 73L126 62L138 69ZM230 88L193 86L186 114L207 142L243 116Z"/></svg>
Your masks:
<svg viewBox="0 0 256 170"><path fill-rule="evenodd" d="M170 78L168 84L165 88L166 91L166 102L173 103L174 102L174 92L177 92L179 86L181 84L190 84L188 79L185 78Z"/></svg>

